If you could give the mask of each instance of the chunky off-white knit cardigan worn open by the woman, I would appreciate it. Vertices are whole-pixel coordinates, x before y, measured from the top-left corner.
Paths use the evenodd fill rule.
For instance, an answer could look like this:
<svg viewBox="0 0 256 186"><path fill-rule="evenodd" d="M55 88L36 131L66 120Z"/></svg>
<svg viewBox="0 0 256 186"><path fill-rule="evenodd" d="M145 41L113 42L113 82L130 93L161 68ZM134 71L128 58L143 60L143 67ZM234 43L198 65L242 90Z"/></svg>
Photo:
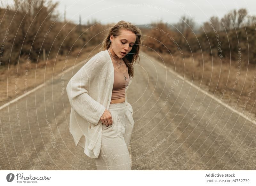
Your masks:
<svg viewBox="0 0 256 186"><path fill-rule="evenodd" d="M125 93L131 82L132 77ZM113 84L114 66L108 50L93 56L67 84L67 95L72 107L69 131L76 146L81 143L84 153L91 158L98 158L100 154L103 125L100 117L109 108ZM126 95L125 102L133 114Z"/></svg>

